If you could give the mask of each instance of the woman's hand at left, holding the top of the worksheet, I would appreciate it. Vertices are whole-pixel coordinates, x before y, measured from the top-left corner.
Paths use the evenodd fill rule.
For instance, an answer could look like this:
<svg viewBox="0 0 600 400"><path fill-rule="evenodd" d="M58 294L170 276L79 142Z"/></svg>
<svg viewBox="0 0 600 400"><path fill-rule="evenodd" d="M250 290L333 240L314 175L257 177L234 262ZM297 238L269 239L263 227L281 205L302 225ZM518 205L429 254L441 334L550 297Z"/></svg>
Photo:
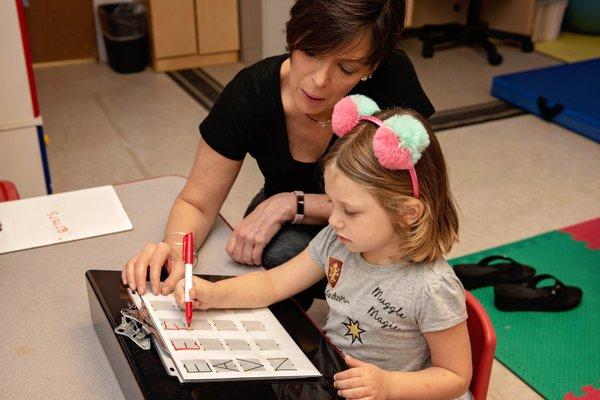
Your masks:
<svg viewBox="0 0 600 400"><path fill-rule="evenodd" d="M152 293L169 294L175 284L183 278L185 269L181 258L181 249L168 243L149 243L144 249L132 257L121 271L121 280L124 285L129 285L131 290L139 294L146 293L146 277L150 268L150 286ZM169 277L160 282L160 272L166 263Z"/></svg>

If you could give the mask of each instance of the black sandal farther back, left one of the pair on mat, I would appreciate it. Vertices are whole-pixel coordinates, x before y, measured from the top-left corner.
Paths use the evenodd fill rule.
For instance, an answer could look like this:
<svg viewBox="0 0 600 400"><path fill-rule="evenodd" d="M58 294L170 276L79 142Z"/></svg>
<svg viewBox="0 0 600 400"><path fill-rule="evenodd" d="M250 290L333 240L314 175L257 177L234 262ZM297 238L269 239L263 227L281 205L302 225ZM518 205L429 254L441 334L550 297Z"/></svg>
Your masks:
<svg viewBox="0 0 600 400"><path fill-rule="evenodd" d="M490 264L496 260L506 262ZM534 268L505 256L485 257L477 264L455 265L454 272L467 290L502 283L523 283L535 275Z"/></svg>

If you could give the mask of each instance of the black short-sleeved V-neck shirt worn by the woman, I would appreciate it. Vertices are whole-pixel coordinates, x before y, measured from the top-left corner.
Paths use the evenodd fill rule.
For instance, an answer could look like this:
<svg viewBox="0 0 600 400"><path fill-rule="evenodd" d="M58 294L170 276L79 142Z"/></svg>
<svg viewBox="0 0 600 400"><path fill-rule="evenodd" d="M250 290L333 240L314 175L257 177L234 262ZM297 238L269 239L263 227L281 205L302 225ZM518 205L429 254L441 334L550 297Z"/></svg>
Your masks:
<svg viewBox="0 0 600 400"><path fill-rule="evenodd" d="M265 178L267 197L294 190L323 193L319 162L296 161L290 153L280 84L281 64L287 58L287 54L269 57L240 71L200 124L202 137L219 154L243 160L250 153L256 159ZM425 118L435 111L412 63L401 50L383 61L371 79L360 81L350 92L357 93L369 96L381 109L409 107ZM335 138L333 135L328 149Z"/></svg>

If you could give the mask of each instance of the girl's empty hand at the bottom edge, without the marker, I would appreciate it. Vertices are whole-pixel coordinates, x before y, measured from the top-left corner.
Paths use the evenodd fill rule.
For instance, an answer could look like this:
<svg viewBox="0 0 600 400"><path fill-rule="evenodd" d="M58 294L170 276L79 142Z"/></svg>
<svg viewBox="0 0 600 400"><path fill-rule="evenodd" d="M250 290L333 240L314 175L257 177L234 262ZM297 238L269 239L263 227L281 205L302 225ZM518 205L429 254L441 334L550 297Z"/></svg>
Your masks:
<svg viewBox="0 0 600 400"><path fill-rule="evenodd" d="M346 355L344 361L350 367L333 376L333 386L338 396L347 399L385 399L388 397L390 373Z"/></svg>

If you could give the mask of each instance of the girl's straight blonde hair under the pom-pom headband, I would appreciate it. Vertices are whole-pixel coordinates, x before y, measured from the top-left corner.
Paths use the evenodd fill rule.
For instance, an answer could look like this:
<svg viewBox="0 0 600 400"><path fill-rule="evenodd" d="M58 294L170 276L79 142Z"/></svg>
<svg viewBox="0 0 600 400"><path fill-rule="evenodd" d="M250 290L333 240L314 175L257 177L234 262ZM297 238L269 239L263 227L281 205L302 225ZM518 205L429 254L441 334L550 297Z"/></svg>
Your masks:
<svg viewBox="0 0 600 400"><path fill-rule="evenodd" d="M339 138L323 159L323 165L335 163L348 178L365 187L379 200L390 215L394 230L402 238L400 251L403 257L412 262L429 262L446 255L458 239L458 216L442 149L423 117L406 108L385 110L374 116L385 120L403 114L418 119L425 126L430 140L429 147L415 164L419 200L424 204L424 213L414 224L408 225L402 218L405 201L413 197L409 172L381 166L373 153L375 124L362 121L352 132Z"/></svg>

